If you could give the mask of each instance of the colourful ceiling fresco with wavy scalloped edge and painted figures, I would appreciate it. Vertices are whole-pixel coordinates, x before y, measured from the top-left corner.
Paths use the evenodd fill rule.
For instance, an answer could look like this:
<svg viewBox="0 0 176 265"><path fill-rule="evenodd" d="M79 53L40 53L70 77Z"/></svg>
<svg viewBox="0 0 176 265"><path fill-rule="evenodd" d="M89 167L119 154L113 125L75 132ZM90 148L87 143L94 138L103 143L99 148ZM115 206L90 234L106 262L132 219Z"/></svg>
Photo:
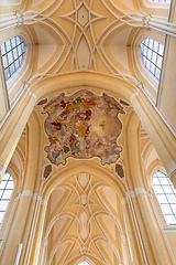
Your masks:
<svg viewBox="0 0 176 265"><path fill-rule="evenodd" d="M88 91L72 96L63 93L48 102L42 113L48 115L44 127L50 146L45 151L51 162L65 165L68 157L99 157L102 165L110 165L120 157L122 147L117 145L117 138L122 123L118 115L125 113L113 97Z"/></svg>

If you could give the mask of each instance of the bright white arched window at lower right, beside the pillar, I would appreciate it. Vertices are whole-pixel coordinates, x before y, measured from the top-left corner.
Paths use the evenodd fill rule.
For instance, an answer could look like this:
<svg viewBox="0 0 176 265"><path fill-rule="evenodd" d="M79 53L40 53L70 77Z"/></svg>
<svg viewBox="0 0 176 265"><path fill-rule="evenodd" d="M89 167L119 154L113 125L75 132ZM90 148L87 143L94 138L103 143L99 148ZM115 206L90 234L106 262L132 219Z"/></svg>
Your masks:
<svg viewBox="0 0 176 265"><path fill-rule="evenodd" d="M169 177L162 171L157 171L153 177L153 189L167 224L176 224L176 189Z"/></svg>

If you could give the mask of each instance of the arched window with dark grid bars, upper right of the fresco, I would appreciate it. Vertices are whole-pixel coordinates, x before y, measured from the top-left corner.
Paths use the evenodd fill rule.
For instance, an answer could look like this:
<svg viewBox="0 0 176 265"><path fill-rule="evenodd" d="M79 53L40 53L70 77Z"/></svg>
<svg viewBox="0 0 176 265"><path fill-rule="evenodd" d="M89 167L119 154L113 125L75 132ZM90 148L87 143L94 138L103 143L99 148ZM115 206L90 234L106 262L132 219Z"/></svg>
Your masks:
<svg viewBox="0 0 176 265"><path fill-rule="evenodd" d="M161 75L164 45L151 38L146 38L140 45L142 62L145 68L158 82Z"/></svg>

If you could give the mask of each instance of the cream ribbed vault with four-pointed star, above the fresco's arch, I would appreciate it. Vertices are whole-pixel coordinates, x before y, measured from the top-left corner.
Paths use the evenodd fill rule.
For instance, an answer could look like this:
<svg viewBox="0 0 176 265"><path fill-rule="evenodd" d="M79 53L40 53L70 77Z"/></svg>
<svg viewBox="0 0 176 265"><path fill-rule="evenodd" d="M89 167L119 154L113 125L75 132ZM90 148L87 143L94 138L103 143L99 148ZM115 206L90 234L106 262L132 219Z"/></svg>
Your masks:
<svg viewBox="0 0 176 265"><path fill-rule="evenodd" d="M133 75L135 1L28 1L25 20L38 44L37 74L90 70ZM134 22L135 21L135 22Z"/></svg>

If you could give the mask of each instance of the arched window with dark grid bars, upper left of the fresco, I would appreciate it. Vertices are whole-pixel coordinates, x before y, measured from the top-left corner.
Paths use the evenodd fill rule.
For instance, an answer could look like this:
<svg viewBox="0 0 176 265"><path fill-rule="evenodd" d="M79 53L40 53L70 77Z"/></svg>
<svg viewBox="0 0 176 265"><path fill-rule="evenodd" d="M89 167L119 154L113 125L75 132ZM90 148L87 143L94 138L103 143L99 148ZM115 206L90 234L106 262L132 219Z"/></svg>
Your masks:
<svg viewBox="0 0 176 265"><path fill-rule="evenodd" d="M25 44L20 36L13 36L1 44L6 80L8 81L22 65Z"/></svg>

